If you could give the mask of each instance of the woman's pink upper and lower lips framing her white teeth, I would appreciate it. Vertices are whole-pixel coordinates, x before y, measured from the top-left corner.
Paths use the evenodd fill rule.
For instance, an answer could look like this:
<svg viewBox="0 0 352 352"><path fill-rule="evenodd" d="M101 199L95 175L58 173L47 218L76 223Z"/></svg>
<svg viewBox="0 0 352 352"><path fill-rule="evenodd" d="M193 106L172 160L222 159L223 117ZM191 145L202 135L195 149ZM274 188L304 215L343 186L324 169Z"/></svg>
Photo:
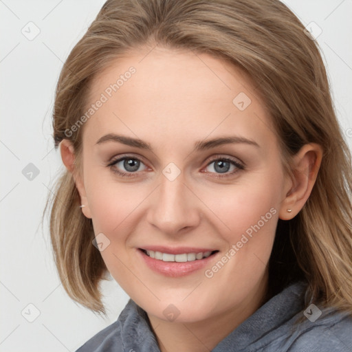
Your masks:
<svg viewBox="0 0 352 352"><path fill-rule="evenodd" d="M161 248L161 247L148 247L151 248L150 250L153 250L152 248ZM146 250L146 248L144 248ZM167 252L165 249L164 250L157 250L157 252L163 252L164 253L170 253L170 254L182 254L182 253L193 253L190 248L187 248L186 252L184 251L185 248L174 248L174 252ZM148 249L149 250L149 249ZM170 249L168 249L170 250ZM182 250L181 252L179 252ZM199 250L199 248L197 249ZM177 251L177 253L175 252ZM197 251L195 251L197 252ZM203 252L202 250L199 250L199 252ZM198 253L199 253L198 252ZM207 252L207 250L204 250L204 252ZM141 257L141 259L146 263L146 265L153 270L154 272L157 272L158 274L162 274L164 276L169 276L173 278L181 277L181 276L186 276L189 274L192 274L193 272L197 272L198 270L203 269L206 267L206 265L209 265L210 261L212 261L215 256L217 256L219 252L216 252L214 254L211 254L208 256L208 258L204 259L196 259L195 261L187 261L184 263L178 263L178 262L166 262L166 261L160 261L158 259L151 258L150 256L146 255L141 248L137 248L137 255Z"/></svg>

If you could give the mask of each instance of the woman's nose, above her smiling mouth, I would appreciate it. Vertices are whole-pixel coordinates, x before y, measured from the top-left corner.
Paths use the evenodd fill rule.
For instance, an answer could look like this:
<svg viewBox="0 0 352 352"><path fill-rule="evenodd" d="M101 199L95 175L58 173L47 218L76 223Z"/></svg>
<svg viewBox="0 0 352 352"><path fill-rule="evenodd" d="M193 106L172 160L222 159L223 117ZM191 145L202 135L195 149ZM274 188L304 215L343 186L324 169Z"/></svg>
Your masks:
<svg viewBox="0 0 352 352"><path fill-rule="evenodd" d="M161 184L149 199L148 223L170 236L199 225L199 199L185 184L183 174L173 181L161 175Z"/></svg>

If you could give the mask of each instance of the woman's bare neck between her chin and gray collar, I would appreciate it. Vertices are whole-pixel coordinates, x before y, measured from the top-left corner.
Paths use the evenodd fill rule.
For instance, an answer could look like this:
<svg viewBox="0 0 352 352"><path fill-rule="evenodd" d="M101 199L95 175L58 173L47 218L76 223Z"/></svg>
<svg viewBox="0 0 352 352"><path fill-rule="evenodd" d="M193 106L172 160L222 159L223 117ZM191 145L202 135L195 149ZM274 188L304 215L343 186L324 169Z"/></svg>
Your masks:
<svg viewBox="0 0 352 352"><path fill-rule="evenodd" d="M267 293L267 276L241 304L195 322L169 322L148 314L161 352L209 352L261 307Z"/></svg>

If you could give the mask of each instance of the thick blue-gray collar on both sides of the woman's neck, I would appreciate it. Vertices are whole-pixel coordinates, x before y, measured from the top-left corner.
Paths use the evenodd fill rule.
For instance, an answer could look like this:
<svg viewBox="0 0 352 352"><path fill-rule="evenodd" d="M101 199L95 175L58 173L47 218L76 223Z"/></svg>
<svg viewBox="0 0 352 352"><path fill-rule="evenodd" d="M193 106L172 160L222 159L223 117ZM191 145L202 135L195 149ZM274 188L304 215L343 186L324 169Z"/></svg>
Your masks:
<svg viewBox="0 0 352 352"><path fill-rule="evenodd" d="M212 350L230 351L248 347L303 309L307 284L294 283L262 305ZM118 318L124 351L160 352L148 315L131 298Z"/></svg>

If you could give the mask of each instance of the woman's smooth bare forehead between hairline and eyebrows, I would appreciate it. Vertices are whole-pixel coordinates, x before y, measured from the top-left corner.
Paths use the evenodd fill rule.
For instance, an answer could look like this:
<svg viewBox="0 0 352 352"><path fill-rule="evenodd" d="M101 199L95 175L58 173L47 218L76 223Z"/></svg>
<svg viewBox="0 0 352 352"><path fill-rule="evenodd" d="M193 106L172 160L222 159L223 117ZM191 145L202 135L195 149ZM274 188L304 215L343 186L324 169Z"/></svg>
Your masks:
<svg viewBox="0 0 352 352"><path fill-rule="evenodd" d="M165 144L232 132L265 142L274 135L255 82L208 54L156 47L116 58L92 82L87 109L98 100L84 140L124 133Z"/></svg>

